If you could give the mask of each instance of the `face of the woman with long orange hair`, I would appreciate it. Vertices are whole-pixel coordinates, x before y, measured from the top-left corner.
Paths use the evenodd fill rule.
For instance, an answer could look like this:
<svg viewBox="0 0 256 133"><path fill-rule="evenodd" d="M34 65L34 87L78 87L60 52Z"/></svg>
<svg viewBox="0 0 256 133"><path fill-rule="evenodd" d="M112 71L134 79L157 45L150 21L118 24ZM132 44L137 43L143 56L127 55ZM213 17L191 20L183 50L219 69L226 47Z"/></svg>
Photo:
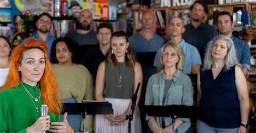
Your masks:
<svg viewBox="0 0 256 133"><path fill-rule="evenodd" d="M33 48L24 51L21 64L18 64L22 82L35 86L42 78L44 69L45 57L41 49Z"/></svg>

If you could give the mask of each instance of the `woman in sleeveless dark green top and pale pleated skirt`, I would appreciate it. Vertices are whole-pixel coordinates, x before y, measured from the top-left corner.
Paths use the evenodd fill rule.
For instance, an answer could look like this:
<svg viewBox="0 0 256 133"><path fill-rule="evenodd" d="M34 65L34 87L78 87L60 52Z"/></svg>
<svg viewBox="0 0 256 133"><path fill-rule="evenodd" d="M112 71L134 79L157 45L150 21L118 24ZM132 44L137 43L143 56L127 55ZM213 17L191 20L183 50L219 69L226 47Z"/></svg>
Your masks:
<svg viewBox="0 0 256 133"><path fill-rule="evenodd" d="M142 68L134 60L125 32L114 32L107 61L100 63L98 67L95 90L96 99L109 101L114 114L96 115L95 132L127 132L128 121L125 120L125 116L130 113L132 95L142 80ZM136 105L140 92L141 87L138 91ZM131 132L142 132L137 107L134 109Z"/></svg>

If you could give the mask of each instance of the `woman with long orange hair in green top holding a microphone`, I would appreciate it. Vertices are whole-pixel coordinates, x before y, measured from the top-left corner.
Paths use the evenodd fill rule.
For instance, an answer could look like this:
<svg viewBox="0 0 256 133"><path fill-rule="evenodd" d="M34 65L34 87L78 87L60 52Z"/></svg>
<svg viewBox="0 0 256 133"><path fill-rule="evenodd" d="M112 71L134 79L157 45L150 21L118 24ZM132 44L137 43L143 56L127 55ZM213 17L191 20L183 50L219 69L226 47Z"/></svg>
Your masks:
<svg viewBox="0 0 256 133"><path fill-rule="evenodd" d="M60 122L62 104L58 98L43 41L28 39L15 48L10 71L0 88L0 132L72 132L66 121ZM41 105L48 105L48 115L41 116Z"/></svg>

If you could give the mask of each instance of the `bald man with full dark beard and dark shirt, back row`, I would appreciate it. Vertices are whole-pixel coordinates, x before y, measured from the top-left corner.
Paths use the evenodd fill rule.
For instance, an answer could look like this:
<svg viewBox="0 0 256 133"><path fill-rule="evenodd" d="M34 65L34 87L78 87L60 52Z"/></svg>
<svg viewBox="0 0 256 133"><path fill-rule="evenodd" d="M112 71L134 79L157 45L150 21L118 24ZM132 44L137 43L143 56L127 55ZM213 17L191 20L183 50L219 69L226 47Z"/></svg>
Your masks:
<svg viewBox="0 0 256 133"><path fill-rule="evenodd" d="M66 37L75 40L79 46L96 45L99 43L97 33L91 30L92 13L89 10L82 10L77 17L77 30L69 31Z"/></svg>

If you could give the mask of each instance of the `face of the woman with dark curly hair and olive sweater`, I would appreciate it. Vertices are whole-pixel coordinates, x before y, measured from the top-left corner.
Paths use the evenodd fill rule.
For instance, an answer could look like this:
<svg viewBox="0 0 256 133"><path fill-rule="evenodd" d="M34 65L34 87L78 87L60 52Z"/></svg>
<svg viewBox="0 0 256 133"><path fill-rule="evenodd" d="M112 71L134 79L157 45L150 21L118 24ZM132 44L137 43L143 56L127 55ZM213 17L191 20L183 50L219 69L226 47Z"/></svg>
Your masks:
<svg viewBox="0 0 256 133"><path fill-rule="evenodd" d="M57 42L56 58L59 64L62 65L72 63L72 53L69 51L69 48L64 41Z"/></svg>

